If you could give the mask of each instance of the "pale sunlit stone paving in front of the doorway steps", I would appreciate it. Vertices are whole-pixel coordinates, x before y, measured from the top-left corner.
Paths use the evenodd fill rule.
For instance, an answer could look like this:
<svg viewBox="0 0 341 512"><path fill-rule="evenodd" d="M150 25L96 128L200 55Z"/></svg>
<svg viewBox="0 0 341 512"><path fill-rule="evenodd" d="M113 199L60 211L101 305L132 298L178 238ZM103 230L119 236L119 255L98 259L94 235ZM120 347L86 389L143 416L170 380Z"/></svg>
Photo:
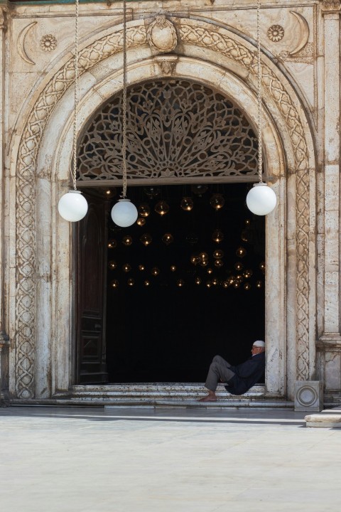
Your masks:
<svg viewBox="0 0 341 512"><path fill-rule="evenodd" d="M339 512L341 430L291 410L0 409L6 512Z"/></svg>

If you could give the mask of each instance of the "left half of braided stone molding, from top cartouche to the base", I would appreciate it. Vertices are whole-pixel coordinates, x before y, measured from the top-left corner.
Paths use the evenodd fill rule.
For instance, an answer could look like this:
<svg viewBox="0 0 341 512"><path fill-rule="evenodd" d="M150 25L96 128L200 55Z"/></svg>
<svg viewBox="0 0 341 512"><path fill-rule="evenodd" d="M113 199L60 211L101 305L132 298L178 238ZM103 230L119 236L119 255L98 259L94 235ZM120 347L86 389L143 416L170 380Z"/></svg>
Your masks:
<svg viewBox="0 0 341 512"><path fill-rule="evenodd" d="M127 48L146 42L144 26L129 28ZM123 31L95 41L79 55L80 74L123 48ZM64 92L75 80L73 57L41 92L23 130L16 169L16 393L34 396L36 338L36 158L43 130Z"/></svg>

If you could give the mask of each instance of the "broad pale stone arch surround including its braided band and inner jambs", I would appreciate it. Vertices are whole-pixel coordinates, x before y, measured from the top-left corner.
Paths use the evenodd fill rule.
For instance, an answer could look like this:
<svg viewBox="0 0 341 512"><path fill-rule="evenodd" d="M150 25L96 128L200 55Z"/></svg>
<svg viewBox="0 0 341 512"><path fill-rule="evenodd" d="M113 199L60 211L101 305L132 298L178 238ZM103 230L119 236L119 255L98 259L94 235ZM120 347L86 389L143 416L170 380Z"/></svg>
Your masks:
<svg viewBox="0 0 341 512"><path fill-rule="evenodd" d="M129 82L164 77L197 81L200 77L205 84L233 98L256 125L256 65L249 39L226 28L217 31L216 26L202 21L200 31L196 20L174 21L179 24L183 44L178 47L179 53L162 58L148 49L144 20L131 22ZM80 76L84 92L79 117L82 123L86 124L92 112L121 86L121 61L117 59L121 52L117 37L120 33L121 26L110 26L105 33L96 33L91 41L84 42L86 65ZM109 53L107 46L97 45L102 36L111 45ZM163 65L165 59L171 60L170 66ZM298 375L308 379L315 368L315 275L308 273L308 264L311 268L315 265L315 250L308 242L315 230L315 154L309 116L300 93L269 56L264 54L261 60L266 77L264 157L271 187L278 197L276 211L266 218L265 393L283 398L293 397ZM33 90L27 112L19 117L13 144L16 189L11 193L10 210L13 222L16 215L18 218L12 247L20 281L12 279L10 290L16 311L16 361L13 356L10 389L21 398L52 396L57 391L70 390L77 381L77 290L72 266L75 238L73 226L59 217L56 207L70 178L72 65L72 54L65 54ZM96 75L92 74L94 65ZM148 179L144 182L151 184ZM46 203L46 191L53 201ZM22 230L22 225L28 228ZM30 240L38 242L35 258ZM24 372L23 361L27 365Z"/></svg>

